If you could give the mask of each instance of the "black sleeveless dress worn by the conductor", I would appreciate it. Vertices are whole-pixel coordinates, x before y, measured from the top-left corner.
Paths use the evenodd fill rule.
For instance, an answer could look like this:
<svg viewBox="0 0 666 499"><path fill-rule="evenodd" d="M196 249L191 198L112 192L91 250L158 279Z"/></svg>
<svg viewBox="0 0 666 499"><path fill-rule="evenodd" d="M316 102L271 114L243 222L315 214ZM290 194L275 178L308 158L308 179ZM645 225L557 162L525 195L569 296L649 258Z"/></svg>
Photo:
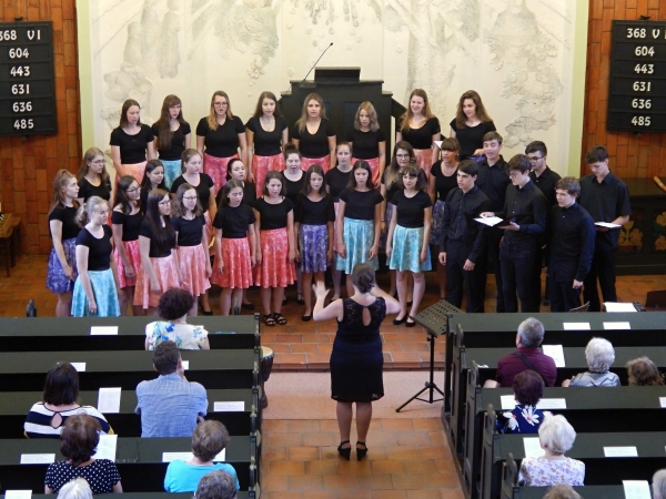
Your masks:
<svg viewBox="0 0 666 499"><path fill-rule="evenodd" d="M384 396L384 356L380 325L386 316L384 298L364 307L351 298L342 302L344 315L331 353L331 398L337 401L369 403ZM363 308L370 324L363 324Z"/></svg>

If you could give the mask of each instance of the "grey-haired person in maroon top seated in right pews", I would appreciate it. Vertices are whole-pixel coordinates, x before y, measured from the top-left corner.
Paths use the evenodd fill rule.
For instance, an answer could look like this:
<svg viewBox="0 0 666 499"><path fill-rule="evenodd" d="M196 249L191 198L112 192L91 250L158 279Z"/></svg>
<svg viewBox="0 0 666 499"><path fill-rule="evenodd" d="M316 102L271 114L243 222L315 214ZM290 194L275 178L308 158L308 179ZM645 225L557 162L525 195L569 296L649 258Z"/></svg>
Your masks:
<svg viewBox="0 0 666 499"><path fill-rule="evenodd" d="M557 368L553 357L544 355L538 348L543 340L544 325L534 317L523 320L516 335L516 352L500 359L495 380L488 379L484 387L508 388L513 386L514 378L527 369L538 373L546 386L555 386Z"/></svg>

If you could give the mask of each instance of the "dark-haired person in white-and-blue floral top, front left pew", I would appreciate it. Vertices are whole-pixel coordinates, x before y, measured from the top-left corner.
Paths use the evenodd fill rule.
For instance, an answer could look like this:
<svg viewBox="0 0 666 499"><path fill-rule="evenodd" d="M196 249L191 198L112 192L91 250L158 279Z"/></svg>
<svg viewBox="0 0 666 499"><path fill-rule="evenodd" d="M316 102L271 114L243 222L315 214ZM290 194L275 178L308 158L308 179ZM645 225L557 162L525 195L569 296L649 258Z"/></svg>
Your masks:
<svg viewBox="0 0 666 499"><path fill-rule="evenodd" d="M194 305L190 292L172 287L160 297L158 312L163 320L145 326L145 349L154 350L162 342L171 340L182 350L208 350L208 330L186 323L188 312Z"/></svg>

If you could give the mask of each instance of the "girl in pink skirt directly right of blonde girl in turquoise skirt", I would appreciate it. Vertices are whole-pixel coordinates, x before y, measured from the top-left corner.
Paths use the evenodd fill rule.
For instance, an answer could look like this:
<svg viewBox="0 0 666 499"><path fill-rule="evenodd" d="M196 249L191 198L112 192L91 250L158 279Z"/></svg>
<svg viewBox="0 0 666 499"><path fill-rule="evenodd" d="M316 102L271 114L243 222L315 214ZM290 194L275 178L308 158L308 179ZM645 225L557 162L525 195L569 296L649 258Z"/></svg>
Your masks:
<svg viewBox="0 0 666 499"><path fill-rule="evenodd" d="M132 175L118 181L111 223L113 231L113 257L118 267L118 291L120 315L125 315L128 304L134 302L137 275L141 272L139 251L139 227L143 222L141 211L141 187ZM143 314L140 306L132 305L134 317Z"/></svg>

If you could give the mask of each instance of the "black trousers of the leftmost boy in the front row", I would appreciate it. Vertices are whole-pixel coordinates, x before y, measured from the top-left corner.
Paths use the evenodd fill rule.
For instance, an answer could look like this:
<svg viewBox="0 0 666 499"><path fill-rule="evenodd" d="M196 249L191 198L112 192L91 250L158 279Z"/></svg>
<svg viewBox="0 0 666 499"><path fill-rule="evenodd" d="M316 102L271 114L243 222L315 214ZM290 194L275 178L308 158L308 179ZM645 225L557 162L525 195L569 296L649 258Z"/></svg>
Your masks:
<svg viewBox="0 0 666 499"><path fill-rule="evenodd" d="M476 261L473 271L464 271L465 261L472 253L472 245L450 241L446 246L446 297L454 307L463 304L463 283L467 298L466 312L484 312L485 301L485 255Z"/></svg>

